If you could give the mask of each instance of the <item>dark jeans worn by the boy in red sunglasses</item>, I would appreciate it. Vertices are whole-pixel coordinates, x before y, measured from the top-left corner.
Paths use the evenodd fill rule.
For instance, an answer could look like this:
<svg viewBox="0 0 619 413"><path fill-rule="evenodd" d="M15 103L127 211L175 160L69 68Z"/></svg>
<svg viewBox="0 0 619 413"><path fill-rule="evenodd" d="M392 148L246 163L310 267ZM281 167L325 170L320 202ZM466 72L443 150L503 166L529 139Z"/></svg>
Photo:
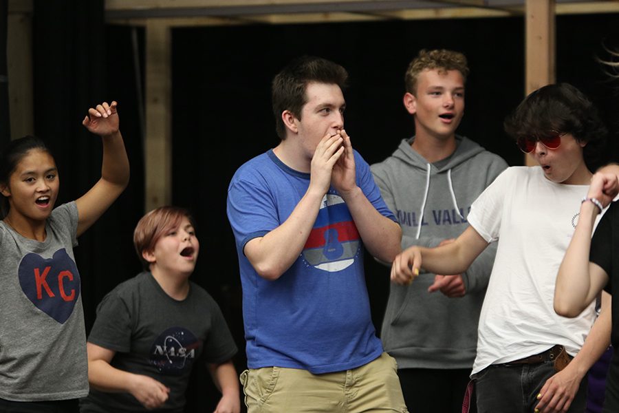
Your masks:
<svg viewBox="0 0 619 413"><path fill-rule="evenodd" d="M552 361L536 364L494 364L474 375L478 413L531 413L537 394L555 374ZM569 413L585 411L587 381L580 382Z"/></svg>

